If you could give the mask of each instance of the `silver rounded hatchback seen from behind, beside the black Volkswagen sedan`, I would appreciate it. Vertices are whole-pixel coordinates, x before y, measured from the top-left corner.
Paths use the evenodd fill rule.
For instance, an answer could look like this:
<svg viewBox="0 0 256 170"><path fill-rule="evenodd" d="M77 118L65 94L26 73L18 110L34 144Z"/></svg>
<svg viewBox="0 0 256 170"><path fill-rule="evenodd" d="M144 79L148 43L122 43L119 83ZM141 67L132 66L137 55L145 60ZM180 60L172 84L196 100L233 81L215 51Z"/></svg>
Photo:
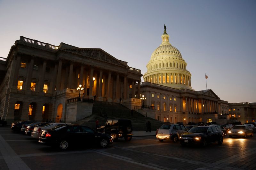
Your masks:
<svg viewBox="0 0 256 170"><path fill-rule="evenodd" d="M187 132L187 129L179 124L163 124L157 131L156 138L163 142L164 140L173 140L177 142L181 134Z"/></svg>

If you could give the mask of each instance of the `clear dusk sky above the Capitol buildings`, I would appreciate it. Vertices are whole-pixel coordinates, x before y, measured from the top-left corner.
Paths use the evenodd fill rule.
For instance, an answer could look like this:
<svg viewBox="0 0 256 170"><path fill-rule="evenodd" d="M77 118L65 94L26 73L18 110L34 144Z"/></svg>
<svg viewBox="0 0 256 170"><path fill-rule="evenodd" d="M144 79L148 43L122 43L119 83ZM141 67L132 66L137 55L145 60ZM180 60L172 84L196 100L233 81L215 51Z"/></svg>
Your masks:
<svg viewBox="0 0 256 170"><path fill-rule="evenodd" d="M0 0L0 57L20 36L101 48L144 74L164 24L192 74L192 89L256 102L256 1Z"/></svg>

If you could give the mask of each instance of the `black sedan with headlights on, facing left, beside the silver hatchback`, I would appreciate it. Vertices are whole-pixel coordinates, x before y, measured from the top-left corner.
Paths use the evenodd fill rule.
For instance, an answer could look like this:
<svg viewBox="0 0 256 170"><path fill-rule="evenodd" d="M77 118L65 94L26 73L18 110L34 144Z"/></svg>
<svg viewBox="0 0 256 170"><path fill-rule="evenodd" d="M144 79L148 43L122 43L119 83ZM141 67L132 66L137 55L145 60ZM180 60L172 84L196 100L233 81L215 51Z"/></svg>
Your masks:
<svg viewBox="0 0 256 170"><path fill-rule="evenodd" d="M224 133L220 129L214 126L198 126L190 129L187 133L184 133L180 137L180 144L201 144L206 146L207 144L218 142L222 144L224 139Z"/></svg>

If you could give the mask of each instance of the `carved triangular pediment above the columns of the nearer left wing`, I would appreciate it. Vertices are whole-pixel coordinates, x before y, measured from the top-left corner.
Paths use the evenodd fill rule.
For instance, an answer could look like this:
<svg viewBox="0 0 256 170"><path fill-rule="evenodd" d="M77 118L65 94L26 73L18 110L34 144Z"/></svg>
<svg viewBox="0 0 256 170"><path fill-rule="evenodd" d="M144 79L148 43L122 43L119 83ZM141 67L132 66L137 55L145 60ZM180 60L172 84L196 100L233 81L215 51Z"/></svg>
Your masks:
<svg viewBox="0 0 256 170"><path fill-rule="evenodd" d="M76 49L63 49L72 53L83 55L92 59L100 60L107 63L117 64L119 66L128 67L123 62L108 54L100 48L76 48Z"/></svg>

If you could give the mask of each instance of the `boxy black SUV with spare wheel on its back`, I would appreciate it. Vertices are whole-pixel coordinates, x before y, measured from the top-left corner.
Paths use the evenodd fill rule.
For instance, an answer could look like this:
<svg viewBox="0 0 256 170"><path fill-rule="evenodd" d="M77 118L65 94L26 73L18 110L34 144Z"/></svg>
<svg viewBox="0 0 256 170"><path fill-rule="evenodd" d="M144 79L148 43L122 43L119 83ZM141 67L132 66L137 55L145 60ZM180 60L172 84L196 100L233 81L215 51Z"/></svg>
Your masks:
<svg viewBox="0 0 256 170"><path fill-rule="evenodd" d="M128 119L107 120L105 126L100 127L102 133L109 134L113 141L117 141L118 137L126 141L132 140L132 122Z"/></svg>

